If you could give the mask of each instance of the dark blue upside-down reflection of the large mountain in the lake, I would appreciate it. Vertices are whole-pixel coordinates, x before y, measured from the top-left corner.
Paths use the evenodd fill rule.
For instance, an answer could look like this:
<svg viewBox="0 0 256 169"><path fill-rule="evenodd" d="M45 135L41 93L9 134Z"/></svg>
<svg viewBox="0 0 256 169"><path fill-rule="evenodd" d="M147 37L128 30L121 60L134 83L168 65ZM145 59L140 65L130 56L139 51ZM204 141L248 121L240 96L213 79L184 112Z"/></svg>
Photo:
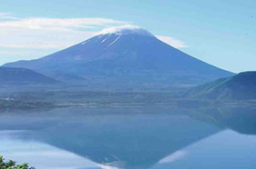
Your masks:
<svg viewBox="0 0 256 169"><path fill-rule="evenodd" d="M89 116L40 131L38 140L118 168L148 168L220 129L186 116Z"/></svg>

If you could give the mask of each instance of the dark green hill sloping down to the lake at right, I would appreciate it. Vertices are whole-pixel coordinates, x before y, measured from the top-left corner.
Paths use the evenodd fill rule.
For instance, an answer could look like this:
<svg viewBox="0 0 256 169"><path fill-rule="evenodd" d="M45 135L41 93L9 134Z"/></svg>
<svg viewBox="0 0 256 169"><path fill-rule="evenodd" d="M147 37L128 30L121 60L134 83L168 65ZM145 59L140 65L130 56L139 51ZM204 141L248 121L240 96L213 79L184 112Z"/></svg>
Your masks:
<svg viewBox="0 0 256 169"><path fill-rule="evenodd" d="M189 90L185 95L194 98L220 100L256 99L256 72L244 72L222 78Z"/></svg>

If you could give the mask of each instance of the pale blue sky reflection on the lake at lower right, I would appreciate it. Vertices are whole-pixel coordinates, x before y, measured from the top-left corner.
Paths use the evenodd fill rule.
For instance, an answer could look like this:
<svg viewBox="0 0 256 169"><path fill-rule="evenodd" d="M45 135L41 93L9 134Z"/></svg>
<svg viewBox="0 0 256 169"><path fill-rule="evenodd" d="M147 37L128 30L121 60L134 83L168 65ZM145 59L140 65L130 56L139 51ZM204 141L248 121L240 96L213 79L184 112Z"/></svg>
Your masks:
<svg viewBox="0 0 256 169"><path fill-rule="evenodd" d="M256 137L225 130L181 150L179 158L166 158L151 169L254 169Z"/></svg>

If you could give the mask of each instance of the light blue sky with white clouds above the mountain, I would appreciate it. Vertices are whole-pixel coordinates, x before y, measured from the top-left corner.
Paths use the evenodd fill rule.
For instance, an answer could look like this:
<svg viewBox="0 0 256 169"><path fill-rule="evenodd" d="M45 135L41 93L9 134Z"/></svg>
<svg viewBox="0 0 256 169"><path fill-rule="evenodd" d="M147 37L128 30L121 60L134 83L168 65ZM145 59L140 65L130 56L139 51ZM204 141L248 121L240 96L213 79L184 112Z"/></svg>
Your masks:
<svg viewBox="0 0 256 169"><path fill-rule="evenodd" d="M0 0L0 65L132 24L211 65L255 70L255 8L255 0Z"/></svg>

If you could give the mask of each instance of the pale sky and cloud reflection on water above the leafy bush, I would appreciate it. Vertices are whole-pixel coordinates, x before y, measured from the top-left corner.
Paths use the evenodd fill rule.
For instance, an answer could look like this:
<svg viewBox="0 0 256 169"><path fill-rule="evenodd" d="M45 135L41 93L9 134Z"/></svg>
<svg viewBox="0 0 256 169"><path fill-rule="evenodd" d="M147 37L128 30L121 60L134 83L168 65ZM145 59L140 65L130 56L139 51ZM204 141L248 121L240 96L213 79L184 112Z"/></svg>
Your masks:
<svg viewBox="0 0 256 169"><path fill-rule="evenodd" d="M0 153L5 159L15 159L18 164L29 162L36 169L74 169L96 167L77 154L34 140L20 139L26 131L0 131ZM98 167L97 167L98 168Z"/></svg>

